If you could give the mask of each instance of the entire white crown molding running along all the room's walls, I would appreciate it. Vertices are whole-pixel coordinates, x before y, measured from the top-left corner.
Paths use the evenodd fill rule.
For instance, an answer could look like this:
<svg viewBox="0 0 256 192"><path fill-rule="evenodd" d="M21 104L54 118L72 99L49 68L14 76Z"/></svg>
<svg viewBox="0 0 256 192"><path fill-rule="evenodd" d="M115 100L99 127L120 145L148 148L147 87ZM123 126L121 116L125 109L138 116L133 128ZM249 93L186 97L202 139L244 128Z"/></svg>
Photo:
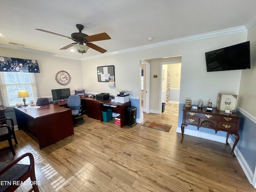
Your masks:
<svg viewBox="0 0 256 192"><path fill-rule="evenodd" d="M250 22L250 23L248 23L247 26L252 27L255 23L256 22ZM66 56L66 55L62 55L62 54L55 54L55 53L40 51L40 50L35 50L35 49L10 46L7 44L0 44L0 48L8 48L8 49L12 49L12 50L20 50L20 51L31 52L31 53L36 53L36 54L43 54L43 55L48 55L48 56L56 56L56 57L62 57L62 58L83 61L83 60L91 60L91 59L95 59L95 58L112 56L112 55L117 55L117 54L122 54L122 53L134 52L134 51L139 51L139 50L144 50L144 49L167 46L167 45L172 45L172 44L184 43L184 42L189 42L189 41L194 41L194 40L200 40L200 39L205 39L205 38L212 38L212 37L222 36L222 35L227 35L227 34L234 34L234 33L238 33L238 32L246 32L246 31L248 31L248 28L246 28L246 26L238 26L238 27L233 27L233 28L193 35L193 36L188 36L188 37L184 37L184 38L178 38L178 39L174 39L174 40L168 40L168 41L164 41L164 42L158 42L158 43L148 44L148 45L144 45L144 46L128 48L128 49L119 50L119 51L115 51L115 52L108 52L108 53L104 53L104 54L100 54L100 55L88 56L88 57L84 57L84 58L77 58L77 57L71 57L71 56Z"/></svg>

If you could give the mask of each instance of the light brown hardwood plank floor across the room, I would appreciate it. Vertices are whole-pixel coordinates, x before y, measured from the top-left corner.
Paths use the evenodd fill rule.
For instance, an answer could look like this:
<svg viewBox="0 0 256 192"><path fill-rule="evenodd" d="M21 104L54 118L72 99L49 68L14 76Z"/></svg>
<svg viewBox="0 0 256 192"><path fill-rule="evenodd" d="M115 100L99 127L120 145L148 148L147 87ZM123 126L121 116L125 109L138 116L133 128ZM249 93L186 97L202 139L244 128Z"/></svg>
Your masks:
<svg viewBox="0 0 256 192"><path fill-rule="evenodd" d="M144 113L147 119L172 128L120 128L84 115L86 122L74 127L73 136L42 150L28 133L17 130L14 158L33 154L42 192L256 191L230 146L187 135L180 143L177 115ZM9 150L0 155L1 161L14 159Z"/></svg>

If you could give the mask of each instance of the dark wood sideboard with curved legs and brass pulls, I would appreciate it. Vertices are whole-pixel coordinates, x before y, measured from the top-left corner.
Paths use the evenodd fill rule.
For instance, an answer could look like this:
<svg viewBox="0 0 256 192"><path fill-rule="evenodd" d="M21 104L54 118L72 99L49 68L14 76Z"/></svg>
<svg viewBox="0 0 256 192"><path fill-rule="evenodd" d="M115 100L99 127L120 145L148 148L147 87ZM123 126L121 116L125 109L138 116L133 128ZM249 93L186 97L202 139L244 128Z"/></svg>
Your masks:
<svg viewBox="0 0 256 192"><path fill-rule="evenodd" d="M239 140L238 130L240 125L240 115L236 113L227 114L224 111L213 109L212 112L206 112L206 108L192 109L192 107L183 106L183 120L181 124L181 133L183 141L184 127L187 125L214 129L217 131L227 132L226 144L228 144L228 136L234 135L236 140L232 148L232 155L235 157L234 148Z"/></svg>

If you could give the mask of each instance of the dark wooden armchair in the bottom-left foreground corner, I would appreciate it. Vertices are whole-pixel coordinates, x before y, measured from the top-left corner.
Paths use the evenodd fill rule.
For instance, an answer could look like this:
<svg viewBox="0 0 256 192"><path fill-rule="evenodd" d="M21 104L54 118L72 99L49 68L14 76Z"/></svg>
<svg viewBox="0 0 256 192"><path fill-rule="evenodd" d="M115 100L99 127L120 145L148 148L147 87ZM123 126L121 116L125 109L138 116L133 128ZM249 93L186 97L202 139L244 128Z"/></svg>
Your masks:
<svg viewBox="0 0 256 192"><path fill-rule="evenodd" d="M30 164L18 164L20 160L29 157ZM4 185L0 185L0 191L14 192L21 182L25 182L28 178L30 181L26 185L31 185L32 188L28 192L39 192L34 167L34 157L31 153L23 154L12 162L0 162L0 181L4 181ZM17 184L17 185L16 185Z"/></svg>

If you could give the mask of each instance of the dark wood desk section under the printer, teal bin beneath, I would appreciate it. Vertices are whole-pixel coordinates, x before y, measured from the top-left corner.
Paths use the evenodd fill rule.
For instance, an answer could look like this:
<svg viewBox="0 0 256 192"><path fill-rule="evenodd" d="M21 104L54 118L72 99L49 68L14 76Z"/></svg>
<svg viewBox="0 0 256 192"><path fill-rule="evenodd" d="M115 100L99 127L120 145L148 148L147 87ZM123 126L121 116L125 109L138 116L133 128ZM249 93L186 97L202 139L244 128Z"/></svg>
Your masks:
<svg viewBox="0 0 256 192"><path fill-rule="evenodd" d="M112 109L112 112L119 113L120 114L120 127L125 126L126 120L125 120L125 110L127 107L131 106L131 102L126 102L126 103L116 103L116 102L111 102L110 100L103 100L100 102L100 109L105 110L105 109ZM111 107L111 106L104 106L104 104L107 105L115 105L116 107ZM101 121L103 121L103 116L102 113L101 115Z"/></svg>

